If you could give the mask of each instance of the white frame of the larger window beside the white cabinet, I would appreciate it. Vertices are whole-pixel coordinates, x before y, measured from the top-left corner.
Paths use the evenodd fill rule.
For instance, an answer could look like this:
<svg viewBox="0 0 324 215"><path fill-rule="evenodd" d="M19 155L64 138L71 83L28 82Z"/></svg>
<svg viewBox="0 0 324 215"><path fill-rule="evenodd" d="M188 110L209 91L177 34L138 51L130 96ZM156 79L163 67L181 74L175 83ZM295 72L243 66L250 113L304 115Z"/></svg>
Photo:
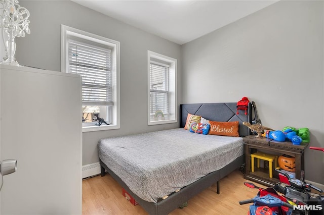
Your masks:
<svg viewBox="0 0 324 215"><path fill-rule="evenodd" d="M113 106L107 106L107 115L110 115L111 120L110 125L91 125L83 126L83 132L89 131L100 131L100 130L110 130L110 129L120 129L120 84L119 84L119 64L120 64L120 43L118 41L108 39L93 33L82 31L69 26L61 25L61 72L69 73L68 68L68 36L77 37L80 39L85 39L100 43L102 45L108 45L113 47L112 50L112 87L113 87ZM81 92L80 92L81 95ZM86 103L83 103L85 105ZM100 104L99 104L100 105ZM81 121L81 116L80 116Z"/></svg>

